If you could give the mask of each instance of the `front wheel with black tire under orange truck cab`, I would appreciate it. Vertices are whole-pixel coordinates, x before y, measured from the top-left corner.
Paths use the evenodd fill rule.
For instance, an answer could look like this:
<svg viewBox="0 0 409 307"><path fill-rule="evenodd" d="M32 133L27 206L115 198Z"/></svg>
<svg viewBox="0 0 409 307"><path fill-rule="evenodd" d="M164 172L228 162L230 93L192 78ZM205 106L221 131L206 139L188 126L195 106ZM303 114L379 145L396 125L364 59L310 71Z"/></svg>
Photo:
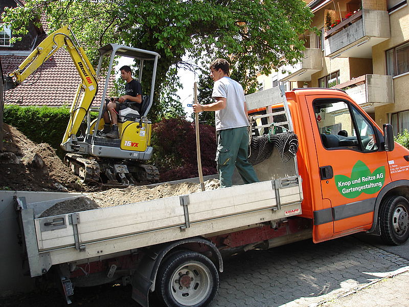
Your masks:
<svg viewBox="0 0 409 307"><path fill-rule="evenodd" d="M409 202L403 196L390 196L380 208L380 233L390 245L401 245L409 237Z"/></svg>

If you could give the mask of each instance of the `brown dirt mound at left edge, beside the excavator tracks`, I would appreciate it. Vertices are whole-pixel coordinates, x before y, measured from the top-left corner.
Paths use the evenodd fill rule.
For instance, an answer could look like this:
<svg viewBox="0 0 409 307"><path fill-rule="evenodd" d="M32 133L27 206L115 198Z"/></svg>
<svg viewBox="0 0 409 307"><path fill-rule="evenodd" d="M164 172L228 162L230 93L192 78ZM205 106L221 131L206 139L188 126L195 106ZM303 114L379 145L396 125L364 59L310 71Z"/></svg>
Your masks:
<svg viewBox="0 0 409 307"><path fill-rule="evenodd" d="M0 189L15 191L85 191L80 178L46 143L36 144L16 128L3 124Z"/></svg>

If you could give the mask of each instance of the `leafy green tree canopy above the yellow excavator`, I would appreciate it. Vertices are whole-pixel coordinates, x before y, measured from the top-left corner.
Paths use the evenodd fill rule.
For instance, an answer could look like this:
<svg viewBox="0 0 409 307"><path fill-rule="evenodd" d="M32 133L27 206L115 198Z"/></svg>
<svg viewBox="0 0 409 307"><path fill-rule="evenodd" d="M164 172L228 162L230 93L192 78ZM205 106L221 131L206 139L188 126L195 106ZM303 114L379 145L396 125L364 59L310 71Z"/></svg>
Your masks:
<svg viewBox="0 0 409 307"><path fill-rule="evenodd" d="M6 9L2 15L13 33L27 32L34 17L45 14L50 30L71 24L89 58L96 65L97 49L108 42L159 53L155 101L170 68L186 65L189 54L198 66L209 59L230 57L241 65L243 86L254 80L256 69L269 73L284 61L302 58L304 41L298 34L310 28L313 16L302 0L26 0L24 7ZM144 70L151 71L146 62ZM146 77L149 74L145 74ZM150 93L142 80L144 91ZM167 86L174 86L169 82ZM162 99L166 105L167 100ZM167 106L167 105L166 105ZM152 115L164 106L155 103ZM151 116L154 118L154 116Z"/></svg>

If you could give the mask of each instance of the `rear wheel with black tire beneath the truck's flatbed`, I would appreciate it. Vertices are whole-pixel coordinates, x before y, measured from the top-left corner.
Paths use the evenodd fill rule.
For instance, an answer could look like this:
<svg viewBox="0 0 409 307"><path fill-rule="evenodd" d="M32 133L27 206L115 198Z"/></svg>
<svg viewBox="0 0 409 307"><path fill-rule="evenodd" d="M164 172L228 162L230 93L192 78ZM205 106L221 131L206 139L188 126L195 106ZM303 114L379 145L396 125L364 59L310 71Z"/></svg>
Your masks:
<svg viewBox="0 0 409 307"><path fill-rule="evenodd" d="M193 251L178 251L161 264L156 275L156 293L169 307L207 306L219 287L213 262Z"/></svg>

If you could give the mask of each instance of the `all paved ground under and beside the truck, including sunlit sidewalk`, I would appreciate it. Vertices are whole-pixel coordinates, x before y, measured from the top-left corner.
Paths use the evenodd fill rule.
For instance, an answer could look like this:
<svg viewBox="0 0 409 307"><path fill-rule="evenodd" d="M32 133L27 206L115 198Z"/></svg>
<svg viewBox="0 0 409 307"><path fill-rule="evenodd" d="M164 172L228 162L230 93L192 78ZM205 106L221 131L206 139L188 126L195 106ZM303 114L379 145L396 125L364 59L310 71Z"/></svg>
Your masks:
<svg viewBox="0 0 409 307"><path fill-rule="evenodd" d="M352 236L319 244L305 240L270 250L247 251L225 259L218 294L210 307L373 307L377 304L373 304L371 295L390 295L402 284L407 289L409 271L382 279L404 270L409 270L409 260ZM371 294L374 287L380 287L382 283L388 283L389 288L382 287ZM351 293L354 294L349 295ZM361 301L360 295L365 293L369 296L368 304ZM131 299L130 285L75 288L71 298L70 307L138 306ZM409 301L408 295L406 298ZM381 305L409 306L396 304L391 299L390 302ZM47 289L0 298L0 306L67 305L58 291ZM150 297L150 306L161 306L154 295Z"/></svg>

